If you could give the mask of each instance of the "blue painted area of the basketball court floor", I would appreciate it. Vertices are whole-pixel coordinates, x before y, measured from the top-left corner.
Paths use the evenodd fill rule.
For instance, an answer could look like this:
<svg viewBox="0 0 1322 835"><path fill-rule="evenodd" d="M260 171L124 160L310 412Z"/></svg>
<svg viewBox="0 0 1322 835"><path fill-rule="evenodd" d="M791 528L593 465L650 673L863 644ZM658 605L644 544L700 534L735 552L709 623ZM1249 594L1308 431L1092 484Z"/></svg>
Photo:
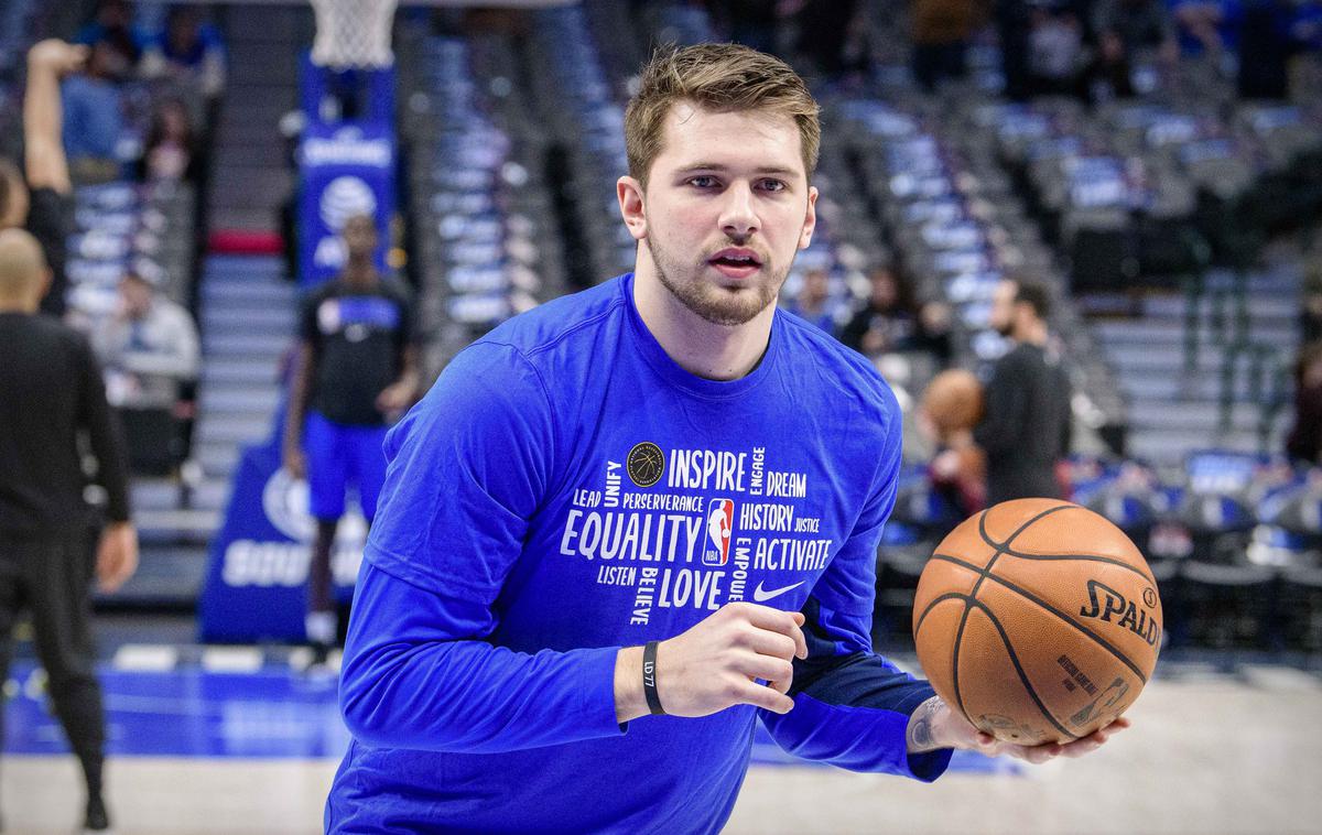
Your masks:
<svg viewBox="0 0 1322 835"><path fill-rule="evenodd" d="M333 674L303 674L286 663L247 672L180 666L165 671L99 669L106 699L107 753L145 757L340 758L349 732ZM69 752L46 707L40 671L16 663L7 691L7 754ZM783 752L759 724L755 765L821 765ZM824 766L825 768L825 766ZM956 752L952 772L1017 774L1017 764Z"/></svg>

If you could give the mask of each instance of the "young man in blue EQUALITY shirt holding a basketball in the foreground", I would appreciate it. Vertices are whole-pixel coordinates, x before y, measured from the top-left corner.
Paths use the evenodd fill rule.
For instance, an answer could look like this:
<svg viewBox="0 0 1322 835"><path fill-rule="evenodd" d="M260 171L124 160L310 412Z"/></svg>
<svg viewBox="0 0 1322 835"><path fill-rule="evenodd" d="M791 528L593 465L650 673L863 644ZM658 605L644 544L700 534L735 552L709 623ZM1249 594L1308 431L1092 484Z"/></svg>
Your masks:
<svg viewBox="0 0 1322 835"><path fill-rule="evenodd" d="M817 106L735 45L658 54L617 184L636 271L498 326L386 440L330 832L715 832L759 719L933 780L993 745L871 651L899 410L777 310Z"/></svg>

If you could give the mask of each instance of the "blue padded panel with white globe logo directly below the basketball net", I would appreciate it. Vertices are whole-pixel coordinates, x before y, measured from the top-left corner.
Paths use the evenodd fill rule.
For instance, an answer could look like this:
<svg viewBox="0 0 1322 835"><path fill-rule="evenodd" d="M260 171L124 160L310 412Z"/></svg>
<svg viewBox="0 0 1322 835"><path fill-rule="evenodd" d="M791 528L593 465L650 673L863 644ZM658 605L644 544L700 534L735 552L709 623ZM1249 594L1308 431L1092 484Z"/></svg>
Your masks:
<svg viewBox="0 0 1322 835"><path fill-rule="evenodd" d="M340 231L349 218L377 221L382 246L377 268L386 270L390 218L395 211L395 136L386 123L311 122L299 144L299 283L308 288L344 267Z"/></svg>

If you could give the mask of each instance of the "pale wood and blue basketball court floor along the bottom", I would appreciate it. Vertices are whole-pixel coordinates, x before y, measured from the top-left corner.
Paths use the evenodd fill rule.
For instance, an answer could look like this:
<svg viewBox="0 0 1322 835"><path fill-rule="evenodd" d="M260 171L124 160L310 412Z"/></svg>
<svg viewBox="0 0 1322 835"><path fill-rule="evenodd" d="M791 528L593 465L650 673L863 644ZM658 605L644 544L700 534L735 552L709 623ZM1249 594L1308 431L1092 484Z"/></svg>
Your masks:
<svg viewBox="0 0 1322 835"><path fill-rule="evenodd" d="M957 754L945 777L923 785L792 761L759 739L727 831L1322 832L1322 671L1229 661L1163 658L1129 712L1130 731L1091 757L1046 766ZM116 831L320 832L348 735L333 674L308 674L305 662L280 647L108 649ZM8 692L7 832L71 832L77 766L62 756L30 659L15 665Z"/></svg>

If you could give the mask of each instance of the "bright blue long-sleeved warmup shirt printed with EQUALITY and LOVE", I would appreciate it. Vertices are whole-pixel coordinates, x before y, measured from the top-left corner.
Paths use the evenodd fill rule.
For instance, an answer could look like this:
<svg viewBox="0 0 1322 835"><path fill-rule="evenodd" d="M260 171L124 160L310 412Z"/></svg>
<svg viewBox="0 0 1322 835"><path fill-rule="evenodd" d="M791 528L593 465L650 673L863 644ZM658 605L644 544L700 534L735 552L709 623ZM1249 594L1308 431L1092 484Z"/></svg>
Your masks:
<svg viewBox="0 0 1322 835"><path fill-rule="evenodd" d="M906 753L933 691L869 637L899 408L804 320L777 310L752 373L702 379L624 275L460 351L386 457L327 831L717 832L758 720L847 769L935 780L949 762ZM808 617L795 709L619 725L619 649L734 601Z"/></svg>

